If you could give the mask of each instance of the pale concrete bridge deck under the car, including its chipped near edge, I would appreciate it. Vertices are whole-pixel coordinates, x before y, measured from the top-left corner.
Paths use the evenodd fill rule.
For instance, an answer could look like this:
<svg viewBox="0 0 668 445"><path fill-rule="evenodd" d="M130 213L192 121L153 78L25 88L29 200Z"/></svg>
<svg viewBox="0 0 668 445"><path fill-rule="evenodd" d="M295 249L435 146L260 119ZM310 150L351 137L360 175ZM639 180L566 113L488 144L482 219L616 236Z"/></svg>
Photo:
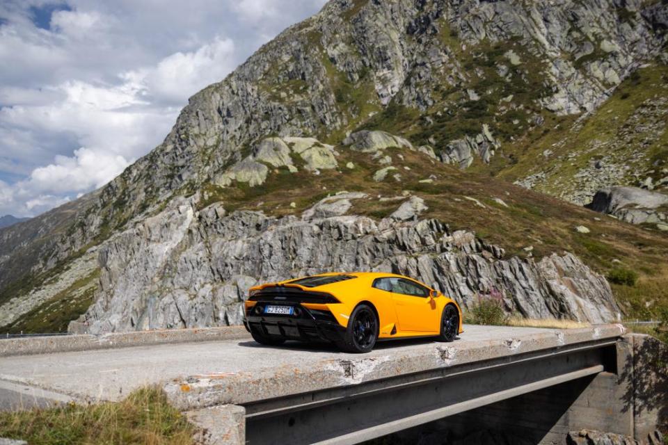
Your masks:
<svg viewBox="0 0 668 445"><path fill-rule="evenodd" d="M623 334L621 325L575 330L466 325L464 329L461 339L454 343L388 342L365 355L301 343L268 348L258 345L250 336L17 355L0 360L0 380L88 401L118 401L138 387L163 384L177 407L192 410L350 385L593 339L613 339Z"/></svg>

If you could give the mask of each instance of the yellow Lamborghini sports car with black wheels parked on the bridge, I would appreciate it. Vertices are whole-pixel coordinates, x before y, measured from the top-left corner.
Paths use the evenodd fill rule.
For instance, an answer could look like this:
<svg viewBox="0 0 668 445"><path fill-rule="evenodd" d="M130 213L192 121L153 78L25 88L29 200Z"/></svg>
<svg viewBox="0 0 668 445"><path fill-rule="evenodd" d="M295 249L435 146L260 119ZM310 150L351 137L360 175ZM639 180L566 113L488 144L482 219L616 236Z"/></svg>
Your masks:
<svg viewBox="0 0 668 445"><path fill-rule="evenodd" d="M257 343L333 341L367 353L376 341L453 341L461 309L438 291L391 273L324 273L250 288L244 325Z"/></svg>

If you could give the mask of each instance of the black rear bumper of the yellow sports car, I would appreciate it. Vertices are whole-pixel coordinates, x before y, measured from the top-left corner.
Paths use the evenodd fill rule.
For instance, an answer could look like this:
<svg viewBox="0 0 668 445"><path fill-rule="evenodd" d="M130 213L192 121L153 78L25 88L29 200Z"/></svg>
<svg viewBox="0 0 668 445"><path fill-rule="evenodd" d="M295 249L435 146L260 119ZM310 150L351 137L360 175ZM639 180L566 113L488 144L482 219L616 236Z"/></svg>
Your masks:
<svg viewBox="0 0 668 445"><path fill-rule="evenodd" d="M300 341L339 341L346 332L344 326L324 311L307 309L296 304L292 306L301 309L299 316L257 314L255 307L264 308L264 305L264 302L258 302L248 309L244 318L244 326L248 332Z"/></svg>

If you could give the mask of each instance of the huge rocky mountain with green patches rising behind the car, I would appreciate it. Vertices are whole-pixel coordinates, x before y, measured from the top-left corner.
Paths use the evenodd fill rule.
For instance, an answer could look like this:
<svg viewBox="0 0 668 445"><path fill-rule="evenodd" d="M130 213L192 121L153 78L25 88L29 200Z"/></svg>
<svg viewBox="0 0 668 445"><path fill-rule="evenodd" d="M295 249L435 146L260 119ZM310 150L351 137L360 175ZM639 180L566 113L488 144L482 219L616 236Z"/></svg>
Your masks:
<svg viewBox="0 0 668 445"><path fill-rule="evenodd" d="M614 318L599 273L653 280L665 237L509 181L577 204L658 184L667 28L665 1L333 0L193 96L108 186L0 232L0 325L56 325L93 301L81 321L100 332L230 323L251 280L352 266L434 275L464 303L498 288L527 316ZM605 177L591 159L637 162ZM366 197L321 202L346 190ZM428 210L398 223L399 197ZM291 250L297 234L310 250ZM344 257L295 262L319 245ZM276 270L258 268L267 250ZM623 312L644 305L613 291Z"/></svg>

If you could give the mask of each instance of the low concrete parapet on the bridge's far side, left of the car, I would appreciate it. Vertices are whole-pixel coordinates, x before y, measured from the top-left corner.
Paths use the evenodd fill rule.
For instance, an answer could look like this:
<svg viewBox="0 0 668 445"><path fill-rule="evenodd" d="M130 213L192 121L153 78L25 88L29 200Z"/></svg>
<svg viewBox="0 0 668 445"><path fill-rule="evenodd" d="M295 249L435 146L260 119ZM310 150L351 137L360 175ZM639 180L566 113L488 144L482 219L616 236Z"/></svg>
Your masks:
<svg viewBox="0 0 668 445"><path fill-rule="evenodd" d="M0 339L0 357L44 353L64 353L129 346L193 343L241 339L248 335L243 326L200 327L194 329L118 332L100 336L75 334L62 337L25 337Z"/></svg>

